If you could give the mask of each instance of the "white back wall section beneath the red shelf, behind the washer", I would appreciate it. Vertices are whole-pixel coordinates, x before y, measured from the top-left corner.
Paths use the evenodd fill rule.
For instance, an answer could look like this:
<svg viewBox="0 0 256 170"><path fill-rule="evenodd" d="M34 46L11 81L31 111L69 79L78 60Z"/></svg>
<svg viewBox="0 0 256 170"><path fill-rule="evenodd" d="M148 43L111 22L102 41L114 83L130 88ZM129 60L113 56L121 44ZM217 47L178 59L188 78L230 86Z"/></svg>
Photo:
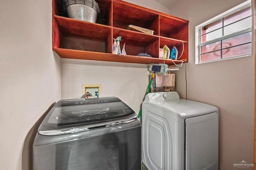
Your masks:
<svg viewBox="0 0 256 170"><path fill-rule="evenodd" d="M148 86L147 67L146 64L62 59L62 98L80 98L82 84L101 84L100 96L116 96L138 114Z"/></svg>

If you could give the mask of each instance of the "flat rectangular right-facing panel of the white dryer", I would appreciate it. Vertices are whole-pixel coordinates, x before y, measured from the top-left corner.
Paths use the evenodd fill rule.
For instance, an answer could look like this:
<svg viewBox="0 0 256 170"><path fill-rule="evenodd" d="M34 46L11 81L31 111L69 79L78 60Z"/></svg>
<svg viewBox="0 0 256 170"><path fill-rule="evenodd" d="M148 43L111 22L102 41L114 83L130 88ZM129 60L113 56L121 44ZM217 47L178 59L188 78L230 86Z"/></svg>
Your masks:
<svg viewBox="0 0 256 170"><path fill-rule="evenodd" d="M218 170L218 113L185 120L186 170Z"/></svg>

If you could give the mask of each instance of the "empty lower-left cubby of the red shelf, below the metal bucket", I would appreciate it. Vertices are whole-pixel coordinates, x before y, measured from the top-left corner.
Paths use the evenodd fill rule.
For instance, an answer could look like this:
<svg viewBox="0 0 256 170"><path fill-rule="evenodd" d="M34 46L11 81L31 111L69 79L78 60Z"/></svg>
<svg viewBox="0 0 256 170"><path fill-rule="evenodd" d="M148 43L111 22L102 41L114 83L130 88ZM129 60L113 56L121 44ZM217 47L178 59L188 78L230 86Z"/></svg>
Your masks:
<svg viewBox="0 0 256 170"><path fill-rule="evenodd" d="M97 23L54 16L60 30L60 42L55 47L102 53L112 53L111 27Z"/></svg>

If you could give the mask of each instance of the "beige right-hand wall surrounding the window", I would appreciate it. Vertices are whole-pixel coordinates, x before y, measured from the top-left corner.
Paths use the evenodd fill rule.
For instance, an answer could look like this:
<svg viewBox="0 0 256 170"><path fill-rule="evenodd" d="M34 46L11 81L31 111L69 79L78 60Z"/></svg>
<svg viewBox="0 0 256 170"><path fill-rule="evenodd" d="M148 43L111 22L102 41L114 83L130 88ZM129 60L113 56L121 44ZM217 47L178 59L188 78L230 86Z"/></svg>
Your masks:
<svg viewBox="0 0 256 170"><path fill-rule="evenodd" d="M253 163L254 32L252 56L195 65L195 26L244 1L182 0L170 9L172 15L189 20L188 100L219 108L220 170L234 169L242 160ZM176 91L186 98L185 64L175 73Z"/></svg>

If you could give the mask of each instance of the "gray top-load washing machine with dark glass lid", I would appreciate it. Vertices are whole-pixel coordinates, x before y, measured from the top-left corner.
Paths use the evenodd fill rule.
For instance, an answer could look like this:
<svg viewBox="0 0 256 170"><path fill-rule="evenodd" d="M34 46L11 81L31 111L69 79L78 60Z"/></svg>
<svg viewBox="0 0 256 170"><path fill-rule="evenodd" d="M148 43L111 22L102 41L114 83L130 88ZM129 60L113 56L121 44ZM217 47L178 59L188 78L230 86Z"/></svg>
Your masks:
<svg viewBox="0 0 256 170"><path fill-rule="evenodd" d="M116 97L60 100L33 144L34 170L140 170L141 124Z"/></svg>

